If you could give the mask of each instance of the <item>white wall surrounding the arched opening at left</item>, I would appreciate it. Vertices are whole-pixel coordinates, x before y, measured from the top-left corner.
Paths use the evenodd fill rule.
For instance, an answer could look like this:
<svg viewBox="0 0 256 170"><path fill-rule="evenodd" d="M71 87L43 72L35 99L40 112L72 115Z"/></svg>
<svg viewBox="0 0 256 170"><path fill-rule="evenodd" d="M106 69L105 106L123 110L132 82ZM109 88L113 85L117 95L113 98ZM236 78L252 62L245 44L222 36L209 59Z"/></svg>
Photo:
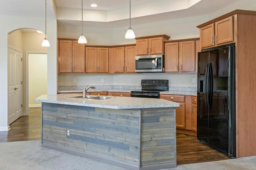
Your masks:
<svg viewBox="0 0 256 170"><path fill-rule="evenodd" d="M19 28L33 28L44 30L45 18L0 16L0 131L8 130L8 88L7 88L7 57L8 57L8 33ZM56 19L48 18L47 35L51 46L47 48L48 53L48 94L56 94L57 91L57 22ZM19 46L19 45L17 45ZM16 47L20 48L20 47ZM24 53L24 52L23 52Z"/></svg>

